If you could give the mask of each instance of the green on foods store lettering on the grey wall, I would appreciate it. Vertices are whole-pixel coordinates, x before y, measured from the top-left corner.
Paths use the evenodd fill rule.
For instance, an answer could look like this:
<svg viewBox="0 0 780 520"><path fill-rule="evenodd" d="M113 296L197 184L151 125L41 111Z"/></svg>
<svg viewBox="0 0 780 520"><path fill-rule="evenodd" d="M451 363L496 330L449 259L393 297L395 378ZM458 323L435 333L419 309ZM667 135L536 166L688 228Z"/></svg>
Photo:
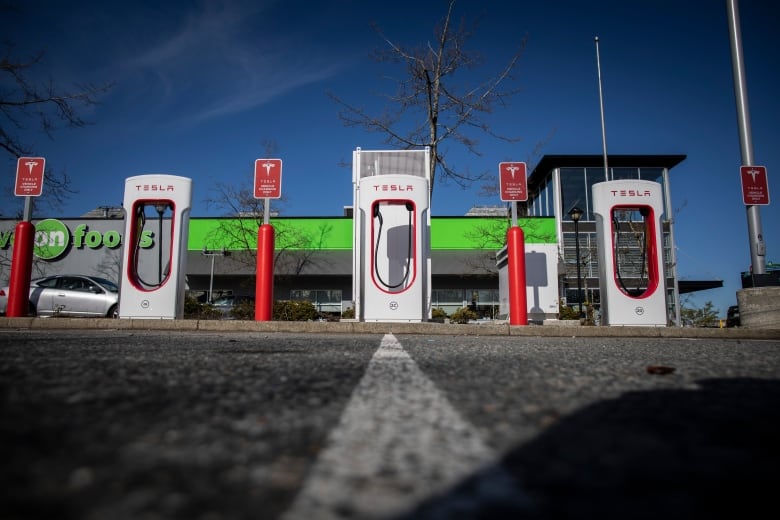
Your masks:
<svg viewBox="0 0 780 520"><path fill-rule="evenodd" d="M13 244L13 235L13 231L0 232L0 249L6 249ZM144 249L152 247L152 236L152 231L144 231L139 246ZM76 249L116 249L121 245L122 235L119 231L109 230L101 233L90 230L86 224L79 224L71 233L68 226L61 221L49 218L35 224L33 255L41 260L54 260L65 254L71 246Z"/></svg>

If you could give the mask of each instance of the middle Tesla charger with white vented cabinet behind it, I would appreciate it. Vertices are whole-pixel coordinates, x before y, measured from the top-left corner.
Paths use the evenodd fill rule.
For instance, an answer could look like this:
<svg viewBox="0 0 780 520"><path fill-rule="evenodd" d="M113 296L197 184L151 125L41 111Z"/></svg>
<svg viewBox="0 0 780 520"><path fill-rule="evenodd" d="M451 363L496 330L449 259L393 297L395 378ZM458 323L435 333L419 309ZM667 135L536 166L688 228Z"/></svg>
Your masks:
<svg viewBox="0 0 780 520"><path fill-rule="evenodd" d="M355 318L431 317L430 150L352 155Z"/></svg>

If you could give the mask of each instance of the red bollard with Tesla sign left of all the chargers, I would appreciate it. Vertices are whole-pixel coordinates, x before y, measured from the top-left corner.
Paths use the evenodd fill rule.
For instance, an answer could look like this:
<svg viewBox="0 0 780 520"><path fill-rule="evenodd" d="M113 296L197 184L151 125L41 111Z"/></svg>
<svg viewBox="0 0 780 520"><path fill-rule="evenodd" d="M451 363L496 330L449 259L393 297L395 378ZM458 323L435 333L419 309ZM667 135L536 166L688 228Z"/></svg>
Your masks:
<svg viewBox="0 0 780 520"><path fill-rule="evenodd" d="M9 318L27 316L30 306L30 276L32 275L33 243L35 226L32 220L33 197L43 192L43 171L46 160L43 157L19 157L16 162L16 184L14 195L24 197L24 216L14 231L14 251L11 256L11 276L8 282L8 305L5 311Z"/></svg>

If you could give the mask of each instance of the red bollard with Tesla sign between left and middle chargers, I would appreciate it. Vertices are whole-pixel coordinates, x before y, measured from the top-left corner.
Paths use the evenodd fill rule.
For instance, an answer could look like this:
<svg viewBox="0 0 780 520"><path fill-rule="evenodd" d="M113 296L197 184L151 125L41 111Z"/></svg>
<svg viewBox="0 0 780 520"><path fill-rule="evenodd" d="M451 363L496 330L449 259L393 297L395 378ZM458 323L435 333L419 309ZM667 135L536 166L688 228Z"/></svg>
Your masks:
<svg viewBox="0 0 780 520"><path fill-rule="evenodd" d="M263 225L257 229L255 321L271 321L274 306L274 228L269 223L270 199L282 196L282 160L257 159L254 184L254 197L265 200Z"/></svg>

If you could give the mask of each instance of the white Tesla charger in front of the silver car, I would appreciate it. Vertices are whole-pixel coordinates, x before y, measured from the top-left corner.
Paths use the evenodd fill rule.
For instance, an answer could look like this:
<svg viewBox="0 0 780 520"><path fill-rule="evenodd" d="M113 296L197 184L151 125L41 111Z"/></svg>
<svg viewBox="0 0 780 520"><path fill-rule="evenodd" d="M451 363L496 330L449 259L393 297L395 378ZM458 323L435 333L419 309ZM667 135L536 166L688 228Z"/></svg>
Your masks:
<svg viewBox="0 0 780 520"><path fill-rule="evenodd" d="M120 318L181 319L192 180L139 175L125 180Z"/></svg>

